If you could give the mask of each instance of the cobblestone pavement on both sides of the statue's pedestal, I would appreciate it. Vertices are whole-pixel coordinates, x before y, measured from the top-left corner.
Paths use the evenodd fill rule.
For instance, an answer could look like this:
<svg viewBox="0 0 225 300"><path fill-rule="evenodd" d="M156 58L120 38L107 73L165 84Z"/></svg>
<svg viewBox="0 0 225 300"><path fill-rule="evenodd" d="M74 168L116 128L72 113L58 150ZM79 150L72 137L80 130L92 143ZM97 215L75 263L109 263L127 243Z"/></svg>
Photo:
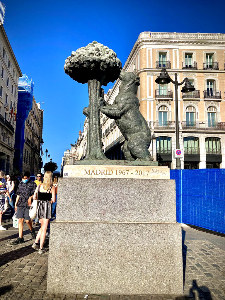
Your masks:
<svg viewBox="0 0 225 300"><path fill-rule="evenodd" d="M11 220L0 231L0 299L1 300L84 300L85 295L46 293L48 251L42 255L31 248L32 240L24 224L25 243L12 245L18 229ZM34 227L38 231L39 226ZM225 238L182 226L184 296L188 300L225 300ZM48 245L46 244L48 248ZM88 300L172 300L171 296L89 295Z"/></svg>

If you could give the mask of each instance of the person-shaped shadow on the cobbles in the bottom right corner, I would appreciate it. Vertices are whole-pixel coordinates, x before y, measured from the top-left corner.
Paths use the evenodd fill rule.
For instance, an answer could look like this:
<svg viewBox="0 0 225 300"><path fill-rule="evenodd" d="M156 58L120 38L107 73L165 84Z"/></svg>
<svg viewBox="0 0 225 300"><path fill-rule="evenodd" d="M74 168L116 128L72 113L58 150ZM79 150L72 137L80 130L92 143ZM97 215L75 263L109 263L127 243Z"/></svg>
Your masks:
<svg viewBox="0 0 225 300"><path fill-rule="evenodd" d="M207 286L198 286L196 280L192 281L192 287L189 290L189 295L176 297L175 300L190 300L190 298L199 300L212 300L211 292Z"/></svg>

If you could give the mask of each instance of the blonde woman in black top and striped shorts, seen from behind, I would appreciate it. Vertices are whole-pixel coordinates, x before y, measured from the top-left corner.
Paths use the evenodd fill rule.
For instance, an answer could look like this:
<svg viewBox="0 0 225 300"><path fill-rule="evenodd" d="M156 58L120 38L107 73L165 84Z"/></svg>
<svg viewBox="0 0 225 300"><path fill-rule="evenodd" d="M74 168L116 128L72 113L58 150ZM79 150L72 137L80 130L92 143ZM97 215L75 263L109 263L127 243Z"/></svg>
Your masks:
<svg viewBox="0 0 225 300"><path fill-rule="evenodd" d="M42 254L47 251L44 248L44 241L47 227L52 217L52 202L55 202L55 187L52 182L52 172L47 171L44 174L44 181L37 186L34 193L34 199L38 200L37 218L41 222L41 228L38 231L32 248L39 250L38 253ZM38 246L39 240L40 248Z"/></svg>

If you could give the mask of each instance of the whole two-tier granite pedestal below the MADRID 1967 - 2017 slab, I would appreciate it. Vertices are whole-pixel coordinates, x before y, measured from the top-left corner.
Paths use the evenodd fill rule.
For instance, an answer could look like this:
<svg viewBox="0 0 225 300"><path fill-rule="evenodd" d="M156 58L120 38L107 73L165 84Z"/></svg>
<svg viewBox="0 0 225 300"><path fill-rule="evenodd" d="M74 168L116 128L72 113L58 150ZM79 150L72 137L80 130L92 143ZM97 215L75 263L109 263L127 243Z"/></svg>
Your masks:
<svg viewBox="0 0 225 300"><path fill-rule="evenodd" d="M182 295L175 181L59 178L47 292Z"/></svg>

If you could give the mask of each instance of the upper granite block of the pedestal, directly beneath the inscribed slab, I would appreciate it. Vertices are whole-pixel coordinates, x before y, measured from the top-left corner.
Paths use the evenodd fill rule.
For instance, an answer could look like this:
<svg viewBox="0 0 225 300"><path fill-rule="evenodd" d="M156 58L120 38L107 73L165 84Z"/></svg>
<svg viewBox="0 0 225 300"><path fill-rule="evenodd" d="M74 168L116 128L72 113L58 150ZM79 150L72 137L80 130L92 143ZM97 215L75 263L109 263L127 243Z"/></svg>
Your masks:
<svg viewBox="0 0 225 300"><path fill-rule="evenodd" d="M176 223L175 197L169 179L59 178L56 221Z"/></svg>

